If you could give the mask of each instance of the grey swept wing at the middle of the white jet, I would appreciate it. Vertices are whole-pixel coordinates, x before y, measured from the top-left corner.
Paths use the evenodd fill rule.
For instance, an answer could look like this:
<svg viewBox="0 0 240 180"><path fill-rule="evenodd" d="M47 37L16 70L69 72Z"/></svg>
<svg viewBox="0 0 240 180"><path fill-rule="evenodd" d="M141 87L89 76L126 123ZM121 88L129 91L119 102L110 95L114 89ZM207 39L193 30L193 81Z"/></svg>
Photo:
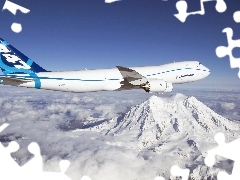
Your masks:
<svg viewBox="0 0 240 180"><path fill-rule="evenodd" d="M117 68L123 77L123 81L120 82L121 87L118 90L138 89L148 82L148 79L146 77L139 74L137 71L133 69L122 66L117 66Z"/></svg>

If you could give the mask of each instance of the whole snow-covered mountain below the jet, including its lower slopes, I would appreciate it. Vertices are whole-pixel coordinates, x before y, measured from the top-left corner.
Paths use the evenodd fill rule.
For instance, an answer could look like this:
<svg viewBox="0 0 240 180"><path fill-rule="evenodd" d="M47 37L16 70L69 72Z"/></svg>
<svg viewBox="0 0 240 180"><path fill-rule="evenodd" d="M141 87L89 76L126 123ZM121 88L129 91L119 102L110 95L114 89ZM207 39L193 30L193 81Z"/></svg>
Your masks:
<svg viewBox="0 0 240 180"><path fill-rule="evenodd" d="M210 177L219 171L215 166L210 172L204 164L207 150L217 146L214 135L223 132L226 141L234 140L239 137L240 124L220 116L195 97L176 94L168 98L151 96L121 119L92 130L112 135L115 145L138 150L139 154L158 154L159 161L165 162L162 171L179 164L190 168L195 177ZM226 163L220 166L231 171Z"/></svg>

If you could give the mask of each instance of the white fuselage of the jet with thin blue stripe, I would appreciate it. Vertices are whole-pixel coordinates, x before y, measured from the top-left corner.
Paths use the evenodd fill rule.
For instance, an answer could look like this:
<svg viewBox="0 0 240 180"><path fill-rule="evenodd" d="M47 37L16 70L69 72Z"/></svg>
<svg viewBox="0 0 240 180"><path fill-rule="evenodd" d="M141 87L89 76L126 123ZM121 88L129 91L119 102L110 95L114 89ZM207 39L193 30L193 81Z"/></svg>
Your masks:
<svg viewBox="0 0 240 180"><path fill-rule="evenodd" d="M161 66L130 67L149 79L159 79L172 84L200 80L209 75L208 68L197 61L175 62ZM21 74L18 75L21 77ZM27 78L25 76L25 78ZM117 90L123 77L117 68L65 72L36 73L34 82L19 86L57 91L91 92Z"/></svg>

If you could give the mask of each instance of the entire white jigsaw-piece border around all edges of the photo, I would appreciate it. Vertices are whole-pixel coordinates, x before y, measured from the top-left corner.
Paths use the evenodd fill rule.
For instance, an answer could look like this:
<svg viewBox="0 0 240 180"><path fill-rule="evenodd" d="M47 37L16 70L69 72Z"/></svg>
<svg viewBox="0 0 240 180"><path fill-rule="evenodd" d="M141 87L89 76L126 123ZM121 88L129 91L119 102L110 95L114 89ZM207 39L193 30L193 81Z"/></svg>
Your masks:
<svg viewBox="0 0 240 180"><path fill-rule="evenodd" d="M113 2L117 2L117 1L120 1L120 0L105 0L105 3L113 3ZM187 7L186 1L180 0L176 3L176 8L178 10L178 14L175 14L175 16L181 22L185 22L186 18L189 15L195 15L195 14L203 15L203 14L205 14L205 9L204 9L203 3L208 2L208 1L216 1L215 8L220 13L226 11L226 9L227 9L227 6L226 6L226 3L224 2L224 0L201 0L201 10L200 11L187 13L188 7ZM29 9L19 6L8 0L6 0L2 10L9 10L14 15L16 15L17 10L20 10L22 13L25 13L25 14L30 12ZM235 22L240 23L240 11L236 11L234 13L233 19ZM22 26L21 26L21 24L18 24L18 23L13 23L11 28L16 33L22 31ZM225 32L227 35L229 46L228 47L224 47L224 46L217 47L216 54L218 57L224 57L224 56L228 55L230 57L231 67L232 68L235 68L235 67L240 68L239 59L234 58L232 55L233 48L240 47L240 40L232 39L233 30L231 28L225 28L223 30L223 32ZM240 78L240 71L239 71L238 76ZM8 126L8 124L3 124L2 126L0 126L0 132L3 131L7 126ZM228 175L227 173L220 171L218 173L218 180L240 179L240 172L239 172L240 156L238 156L238 152L240 152L240 139L232 141L231 143L225 143L224 135L217 134L215 136L215 140L217 141L219 146L208 151L208 156L205 159L206 165L212 166L214 164L215 155L220 155L220 156L232 159L235 161L235 166L233 168L232 175ZM0 174L0 178L1 178L1 176L6 177L5 175L8 175L8 177L14 176L14 177L11 177L10 179L20 178L20 179L25 179L25 180L29 179L30 180L33 178L36 179L36 177L37 177L38 179L47 179L47 180L55 179L55 178L60 179L60 180L70 180L70 178L65 175L67 168L69 168L69 166L70 166L70 162L68 160L62 160L59 163L59 166L61 169L60 173L44 172L42 170L43 161L42 161L42 157L41 157L41 153L40 153L40 147L37 143L33 142L28 146L28 150L30 153L32 153L34 155L34 158L31 159L28 163L26 163L23 167L20 167L13 160L13 158L10 155L12 152L17 151L18 149L19 149L19 145L15 141L10 142L10 144L8 145L7 148L3 147L0 144L0 152L1 152L0 168L1 168L1 170L3 170L2 171L3 173ZM6 167L11 167L11 168L7 169ZM15 173L10 173L10 171L11 172L14 171ZM189 169L181 169L176 165L172 166L172 168L171 168L171 174L173 176L181 176L182 180L187 180L189 177L189 173L190 173ZM161 176L158 176L155 178L155 180L164 180L164 179L165 178L161 177ZM81 178L81 180L91 180L91 178L88 176L83 176Z"/></svg>

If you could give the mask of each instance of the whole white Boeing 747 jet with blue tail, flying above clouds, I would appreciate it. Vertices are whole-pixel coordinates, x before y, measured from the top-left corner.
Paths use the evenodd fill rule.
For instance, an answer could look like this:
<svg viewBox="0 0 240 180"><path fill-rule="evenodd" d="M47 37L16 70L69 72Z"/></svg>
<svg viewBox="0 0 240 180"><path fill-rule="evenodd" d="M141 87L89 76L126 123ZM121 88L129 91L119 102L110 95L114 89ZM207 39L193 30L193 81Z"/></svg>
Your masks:
<svg viewBox="0 0 240 180"><path fill-rule="evenodd" d="M197 81L210 70L198 61L174 62L160 66L52 72L39 66L0 38L0 84L68 92L143 89L165 93L173 84Z"/></svg>

